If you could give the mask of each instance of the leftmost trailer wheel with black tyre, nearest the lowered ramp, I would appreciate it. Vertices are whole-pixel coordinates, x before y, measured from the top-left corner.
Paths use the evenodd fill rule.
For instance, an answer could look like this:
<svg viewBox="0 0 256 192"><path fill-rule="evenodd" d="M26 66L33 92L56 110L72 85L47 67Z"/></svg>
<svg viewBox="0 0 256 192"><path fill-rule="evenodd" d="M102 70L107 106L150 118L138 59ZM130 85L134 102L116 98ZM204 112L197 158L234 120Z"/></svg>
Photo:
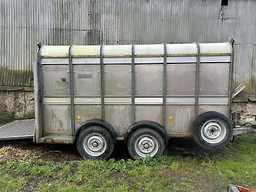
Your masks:
<svg viewBox="0 0 256 192"><path fill-rule="evenodd" d="M87 159L108 159L114 150L111 134L99 126L83 129L76 145L79 154Z"/></svg>

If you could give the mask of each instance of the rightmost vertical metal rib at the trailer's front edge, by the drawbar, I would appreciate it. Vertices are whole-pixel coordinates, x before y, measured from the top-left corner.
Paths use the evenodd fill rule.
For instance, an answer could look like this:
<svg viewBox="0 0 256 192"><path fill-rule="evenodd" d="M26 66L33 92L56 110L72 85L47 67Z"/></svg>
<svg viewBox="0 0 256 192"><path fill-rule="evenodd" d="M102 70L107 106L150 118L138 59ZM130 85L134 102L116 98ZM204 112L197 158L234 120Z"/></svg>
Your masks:
<svg viewBox="0 0 256 192"><path fill-rule="evenodd" d="M234 79L234 39L231 40L231 60L230 60L230 74L229 74L229 90L228 90L228 116L231 119L232 112L232 93L233 93L233 79Z"/></svg>

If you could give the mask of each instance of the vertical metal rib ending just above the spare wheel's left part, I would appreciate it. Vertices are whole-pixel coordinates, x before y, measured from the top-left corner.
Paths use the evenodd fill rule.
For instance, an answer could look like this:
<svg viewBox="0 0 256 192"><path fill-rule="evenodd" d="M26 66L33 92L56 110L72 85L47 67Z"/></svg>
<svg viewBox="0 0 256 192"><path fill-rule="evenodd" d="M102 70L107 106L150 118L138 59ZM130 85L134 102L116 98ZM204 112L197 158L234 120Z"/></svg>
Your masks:
<svg viewBox="0 0 256 192"><path fill-rule="evenodd" d="M195 116L198 116L198 95L199 95L199 86L200 86L200 45L198 42L195 43L197 47L196 54L196 84L195 84Z"/></svg>

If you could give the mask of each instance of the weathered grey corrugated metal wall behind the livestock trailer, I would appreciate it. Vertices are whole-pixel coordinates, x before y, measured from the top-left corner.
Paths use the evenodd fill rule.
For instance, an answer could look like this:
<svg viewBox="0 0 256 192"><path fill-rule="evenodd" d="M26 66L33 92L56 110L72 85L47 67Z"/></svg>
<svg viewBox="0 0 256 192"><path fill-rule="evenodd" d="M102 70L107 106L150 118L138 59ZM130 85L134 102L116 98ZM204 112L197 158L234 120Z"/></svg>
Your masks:
<svg viewBox="0 0 256 192"><path fill-rule="evenodd" d="M256 1L3 0L0 86L33 86L36 42L159 44L236 40L235 83L255 95Z"/></svg>

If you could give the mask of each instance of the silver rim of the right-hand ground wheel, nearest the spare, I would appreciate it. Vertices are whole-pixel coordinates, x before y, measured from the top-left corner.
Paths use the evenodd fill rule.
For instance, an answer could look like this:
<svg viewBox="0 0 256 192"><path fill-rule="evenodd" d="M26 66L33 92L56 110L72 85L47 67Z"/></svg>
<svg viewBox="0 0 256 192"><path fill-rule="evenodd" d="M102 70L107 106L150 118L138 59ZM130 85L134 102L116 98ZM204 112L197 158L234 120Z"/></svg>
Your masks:
<svg viewBox="0 0 256 192"><path fill-rule="evenodd" d="M143 135L137 138L134 147L140 157L154 157L159 150L157 140L150 135Z"/></svg>

